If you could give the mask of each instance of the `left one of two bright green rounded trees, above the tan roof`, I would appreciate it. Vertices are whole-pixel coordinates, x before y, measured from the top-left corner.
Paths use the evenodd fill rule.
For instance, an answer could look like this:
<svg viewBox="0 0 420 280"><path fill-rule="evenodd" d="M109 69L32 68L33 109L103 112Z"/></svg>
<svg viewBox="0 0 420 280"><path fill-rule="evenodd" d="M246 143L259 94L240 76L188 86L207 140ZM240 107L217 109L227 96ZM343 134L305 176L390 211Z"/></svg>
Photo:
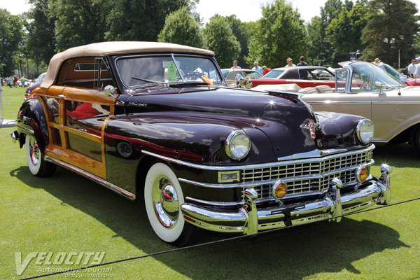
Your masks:
<svg viewBox="0 0 420 280"><path fill-rule="evenodd" d="M200 24L187 6L167 15L165 25L158 35L158 41L196 48L204 47L204 35Z"/></svg>

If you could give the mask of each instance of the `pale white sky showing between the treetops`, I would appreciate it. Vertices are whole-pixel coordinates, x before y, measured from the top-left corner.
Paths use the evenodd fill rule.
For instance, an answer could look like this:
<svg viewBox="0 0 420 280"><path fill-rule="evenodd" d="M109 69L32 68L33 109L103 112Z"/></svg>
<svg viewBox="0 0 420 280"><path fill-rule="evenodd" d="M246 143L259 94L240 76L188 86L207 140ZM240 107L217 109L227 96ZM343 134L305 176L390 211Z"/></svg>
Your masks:
<svg viewBox="0 0 420 280"><path fill-rule="evenodd" d="M261 18L261 6L271 3L273 0L200 0L196 11L200 13L203 23L209 22L209 18L218 13L219 15L236 15L241 22L255 22ZM305 22L319 15L320 8L326 0L289 0L294 8L300 13ZM353 0L353 2L356 0ZM416 3L420 10L420 0L411 0ZM343 1L344 2L344 1ZM31 8L27 0L0 0L0 8L6 8L11 14L18 15Z"/></svg>

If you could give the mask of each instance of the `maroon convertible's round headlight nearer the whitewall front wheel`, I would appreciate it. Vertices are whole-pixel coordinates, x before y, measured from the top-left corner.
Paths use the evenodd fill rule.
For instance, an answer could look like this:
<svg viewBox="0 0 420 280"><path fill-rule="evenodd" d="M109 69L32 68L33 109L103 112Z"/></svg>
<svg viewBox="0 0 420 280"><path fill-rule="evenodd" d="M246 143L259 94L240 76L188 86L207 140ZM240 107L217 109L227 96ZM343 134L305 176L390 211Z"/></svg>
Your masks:
<svg viewBox="0 0 420 280"><path fill-rule="evenodd" d="M241 130L230 132L226 139L226 153L234 160L241 160L248 155L251 150L251 140L248 135Z"/></svg>

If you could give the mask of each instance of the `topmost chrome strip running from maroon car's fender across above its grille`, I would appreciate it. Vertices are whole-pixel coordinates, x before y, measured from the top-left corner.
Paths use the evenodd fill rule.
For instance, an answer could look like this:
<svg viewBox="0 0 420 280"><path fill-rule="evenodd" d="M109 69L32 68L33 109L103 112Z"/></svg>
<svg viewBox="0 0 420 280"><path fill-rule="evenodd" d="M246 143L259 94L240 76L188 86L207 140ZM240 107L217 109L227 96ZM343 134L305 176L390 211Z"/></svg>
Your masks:
<svg viewBox="0 0 420 280"><path fill-rule="evenodd" d="M355 151L350 151L346 153L342 153L342 156L346 155L353 155L356 153L364 153L367 151L372 151L374 149L374 144L371 144L369 147L358 149ZM327 150L329 151L329 150ZM253 169L253 168L263 168L263 167L273 167L276 165L279 165L279 162L269 162L269 163L262 163L258 165L235 165L235 166L211 166L211 165L198 165L195 163L186 162L183 160L176 160L174 158L168 158L164 155L158 155L156 153L151 153L149 151L142 150L141 153L145 153L146 155L151 155L155 158L160 158L161 160L166 160L168 162L174 162L178 165L184 165L187 167L193 167L197 169L204 169L204 170L214 170L214 171L223 171L223 170L237 170L237 169ZM335 155L328 155L323 157L323 160L329 160L330 158L335 158ZM281 165L288 165L288 164L294 164L294 163L302 163L302 162L318 162L319 158L304 158L303 160L287 160L281 162Z"/></svg>

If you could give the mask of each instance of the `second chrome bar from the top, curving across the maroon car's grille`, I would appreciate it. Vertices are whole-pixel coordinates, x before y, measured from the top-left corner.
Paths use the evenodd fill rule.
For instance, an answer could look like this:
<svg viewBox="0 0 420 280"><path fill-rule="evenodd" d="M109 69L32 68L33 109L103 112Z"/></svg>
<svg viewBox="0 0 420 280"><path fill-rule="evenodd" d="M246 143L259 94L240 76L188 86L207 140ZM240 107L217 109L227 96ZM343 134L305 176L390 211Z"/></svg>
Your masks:
<svg viewBox="0 0 420 280"><path fill-rule="evenodd" d="M300 180L308 180L308 179L323 179L325 176L329 176L329 175L337 174L337 173L342 173L342 172L347 172L347 171L351 171L351 170L356 170L360 166L367 167L367 166L373 165L373 164L374 164L374 160L371 159L370 162L367 162L363 165L346 167L346 168L342 168L342 169L336 169L332 172L325 172L323 174L318 174L318 175L291 177L291 178L288 178L288 179L285 178L285 179L281 179L281 181L283 181L284 183L287 183L287 182L291 182L291 181L300 181ZM181 181L181 182L184 182L184 183L190 183L190 184L195 185L195 186L206 187L206 188L246 188L246 187L274 184L274 183L276 183L277 180L278 179L251 182L251 183L238 182L238 183L232 183L232 184L213 184L213 183L200 183L200 182L197 182L197 181L178 178L178 181Z"/></svg>

